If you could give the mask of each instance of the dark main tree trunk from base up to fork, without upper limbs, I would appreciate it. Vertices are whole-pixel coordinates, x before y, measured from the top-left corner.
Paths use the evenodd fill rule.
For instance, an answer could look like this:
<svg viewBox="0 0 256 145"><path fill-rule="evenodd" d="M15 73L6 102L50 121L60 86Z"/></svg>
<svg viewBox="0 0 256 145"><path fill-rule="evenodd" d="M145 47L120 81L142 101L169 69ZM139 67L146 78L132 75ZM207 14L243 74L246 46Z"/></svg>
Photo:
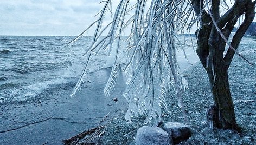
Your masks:
<svg viewBox="0 0 256 145"><path fill-rule="evenodd" d="M213 95L214 111L212 111L213 127L222 129L234 129L239 131L236 124L234 104L231 97L228 82L228 67L223 60L223 54L220 51L219 35L210 38L211 25L204 26L196 32L197 55L206 69L210 89ZM213 49L215 48L215 49Z"/></svg>

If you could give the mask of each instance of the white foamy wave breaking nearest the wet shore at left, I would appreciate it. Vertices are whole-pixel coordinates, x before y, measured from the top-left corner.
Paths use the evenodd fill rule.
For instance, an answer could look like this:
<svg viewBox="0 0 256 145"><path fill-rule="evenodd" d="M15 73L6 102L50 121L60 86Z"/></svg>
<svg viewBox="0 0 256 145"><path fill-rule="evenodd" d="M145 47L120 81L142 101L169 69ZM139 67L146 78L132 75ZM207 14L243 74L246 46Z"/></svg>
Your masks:
<svg viewBox="0 0 256 145"><path fill-rule="evenodd" d="M2 88L2 85L0 86ZM63 83L60 80L43 81L28 85L8 83L4 86L8 88L0 92L0 105L37 103L42 100L54 99L61 94L69 95L74 86L75 82Z"/></svg>

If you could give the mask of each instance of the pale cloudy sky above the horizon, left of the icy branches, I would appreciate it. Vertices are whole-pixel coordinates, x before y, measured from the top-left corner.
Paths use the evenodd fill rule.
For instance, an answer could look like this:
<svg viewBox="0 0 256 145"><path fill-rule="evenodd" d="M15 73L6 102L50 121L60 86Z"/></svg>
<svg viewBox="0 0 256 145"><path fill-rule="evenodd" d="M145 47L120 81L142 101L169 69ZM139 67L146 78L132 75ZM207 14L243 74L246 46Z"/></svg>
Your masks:
<svg viewBox="0 0 256 145"><path fill-rule="evenodd" d="M99 2L101 0L0 0L0 35L77 36L97 19L94 16L103 7ZM115 0L113 5L118 2Z"/></svg>

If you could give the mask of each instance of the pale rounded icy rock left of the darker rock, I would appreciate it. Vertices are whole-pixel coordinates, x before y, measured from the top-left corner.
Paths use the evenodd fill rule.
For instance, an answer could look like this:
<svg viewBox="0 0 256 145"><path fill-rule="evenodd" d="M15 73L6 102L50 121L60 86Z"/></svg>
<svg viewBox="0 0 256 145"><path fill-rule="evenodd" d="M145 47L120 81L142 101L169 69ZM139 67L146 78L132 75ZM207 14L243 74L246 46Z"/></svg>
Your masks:
<svg viewBox="0 0 256 145"><path fill-rule="evenodd" d="M136 145L172 145L170 134L159 127L143 126L137 131Z"/></svg>

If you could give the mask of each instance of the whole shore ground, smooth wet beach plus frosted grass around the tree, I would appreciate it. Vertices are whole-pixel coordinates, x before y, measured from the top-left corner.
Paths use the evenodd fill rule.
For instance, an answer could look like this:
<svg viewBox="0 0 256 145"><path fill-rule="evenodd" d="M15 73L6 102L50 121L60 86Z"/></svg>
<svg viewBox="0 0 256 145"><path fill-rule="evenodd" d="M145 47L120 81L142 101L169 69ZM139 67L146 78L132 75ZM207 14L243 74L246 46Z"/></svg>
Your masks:
<svg viewBox="0 0 256 145"><path fill-rule="evenodd" d="M252 41L252 39L249 40ZM241 54L256 64L255 50L252 51L252 47L256 45L255 41L250 43L242 41L241 43ZM208 78L200 63L192 66L187 64L187 66L189 67L185 69L184 77L189 83L189 88L185 91L183 97L185 109L189 113L190 126L194 134L187 141L180 144L232 144L234 143L232 141L239 142L240 144L250 144L253 140L254 142L252 143L255 143L256 121L254 120L256 118L256 103L252 101L235 101L253 100L256 98L255 66L251 67L244 60L235 56L229 69L229 81L231 83L236 117L238 118L239 126L243 127L242 133L246 134L242 136L230 130L213 131L208 129L205 122L205 111L212 104L212 97L208 88ZM49 144L62 144L62 140L97 126L98 122L112 110L110 114L112 116L111 123L108 124L100 142L103 144L134 144L133 137L135 137L137 129L144 125L144 118L133 118L133 123L129 124L125 121L124 114L127 111L127 103L122 92L126 84L125 80L120 79L120 77L116 85L118 87L113 94L107 97L104 95L103 89L110 71L108 68L97 70L95 73L89 73L88 80L85 82L86 88L82 88L82 91L73 98L69 96L73 87L65 84L61 87L56 86L53 90L47 90L49 94L46 94L50 98L39 100L39 102L0 106L0 115L9 119L0 118L0 131L22 126L24 124L22 122L30 123L47 117L60 117L66 118L71 122L84 122L76 124L63 120L47 120L29 127L2 133L0 134L1 143L43 144L47 142ZM177 105L176 95L170 93L169 96L166 100L168 112L163 114L163 120L182 122L183 117ZM118 102L114 102L112 98L118 98ZM10 120L15 120L16 122ZM20 122L18 123L17 121ZM231 136L231 138L229 139L228 136Z"/></svg>

